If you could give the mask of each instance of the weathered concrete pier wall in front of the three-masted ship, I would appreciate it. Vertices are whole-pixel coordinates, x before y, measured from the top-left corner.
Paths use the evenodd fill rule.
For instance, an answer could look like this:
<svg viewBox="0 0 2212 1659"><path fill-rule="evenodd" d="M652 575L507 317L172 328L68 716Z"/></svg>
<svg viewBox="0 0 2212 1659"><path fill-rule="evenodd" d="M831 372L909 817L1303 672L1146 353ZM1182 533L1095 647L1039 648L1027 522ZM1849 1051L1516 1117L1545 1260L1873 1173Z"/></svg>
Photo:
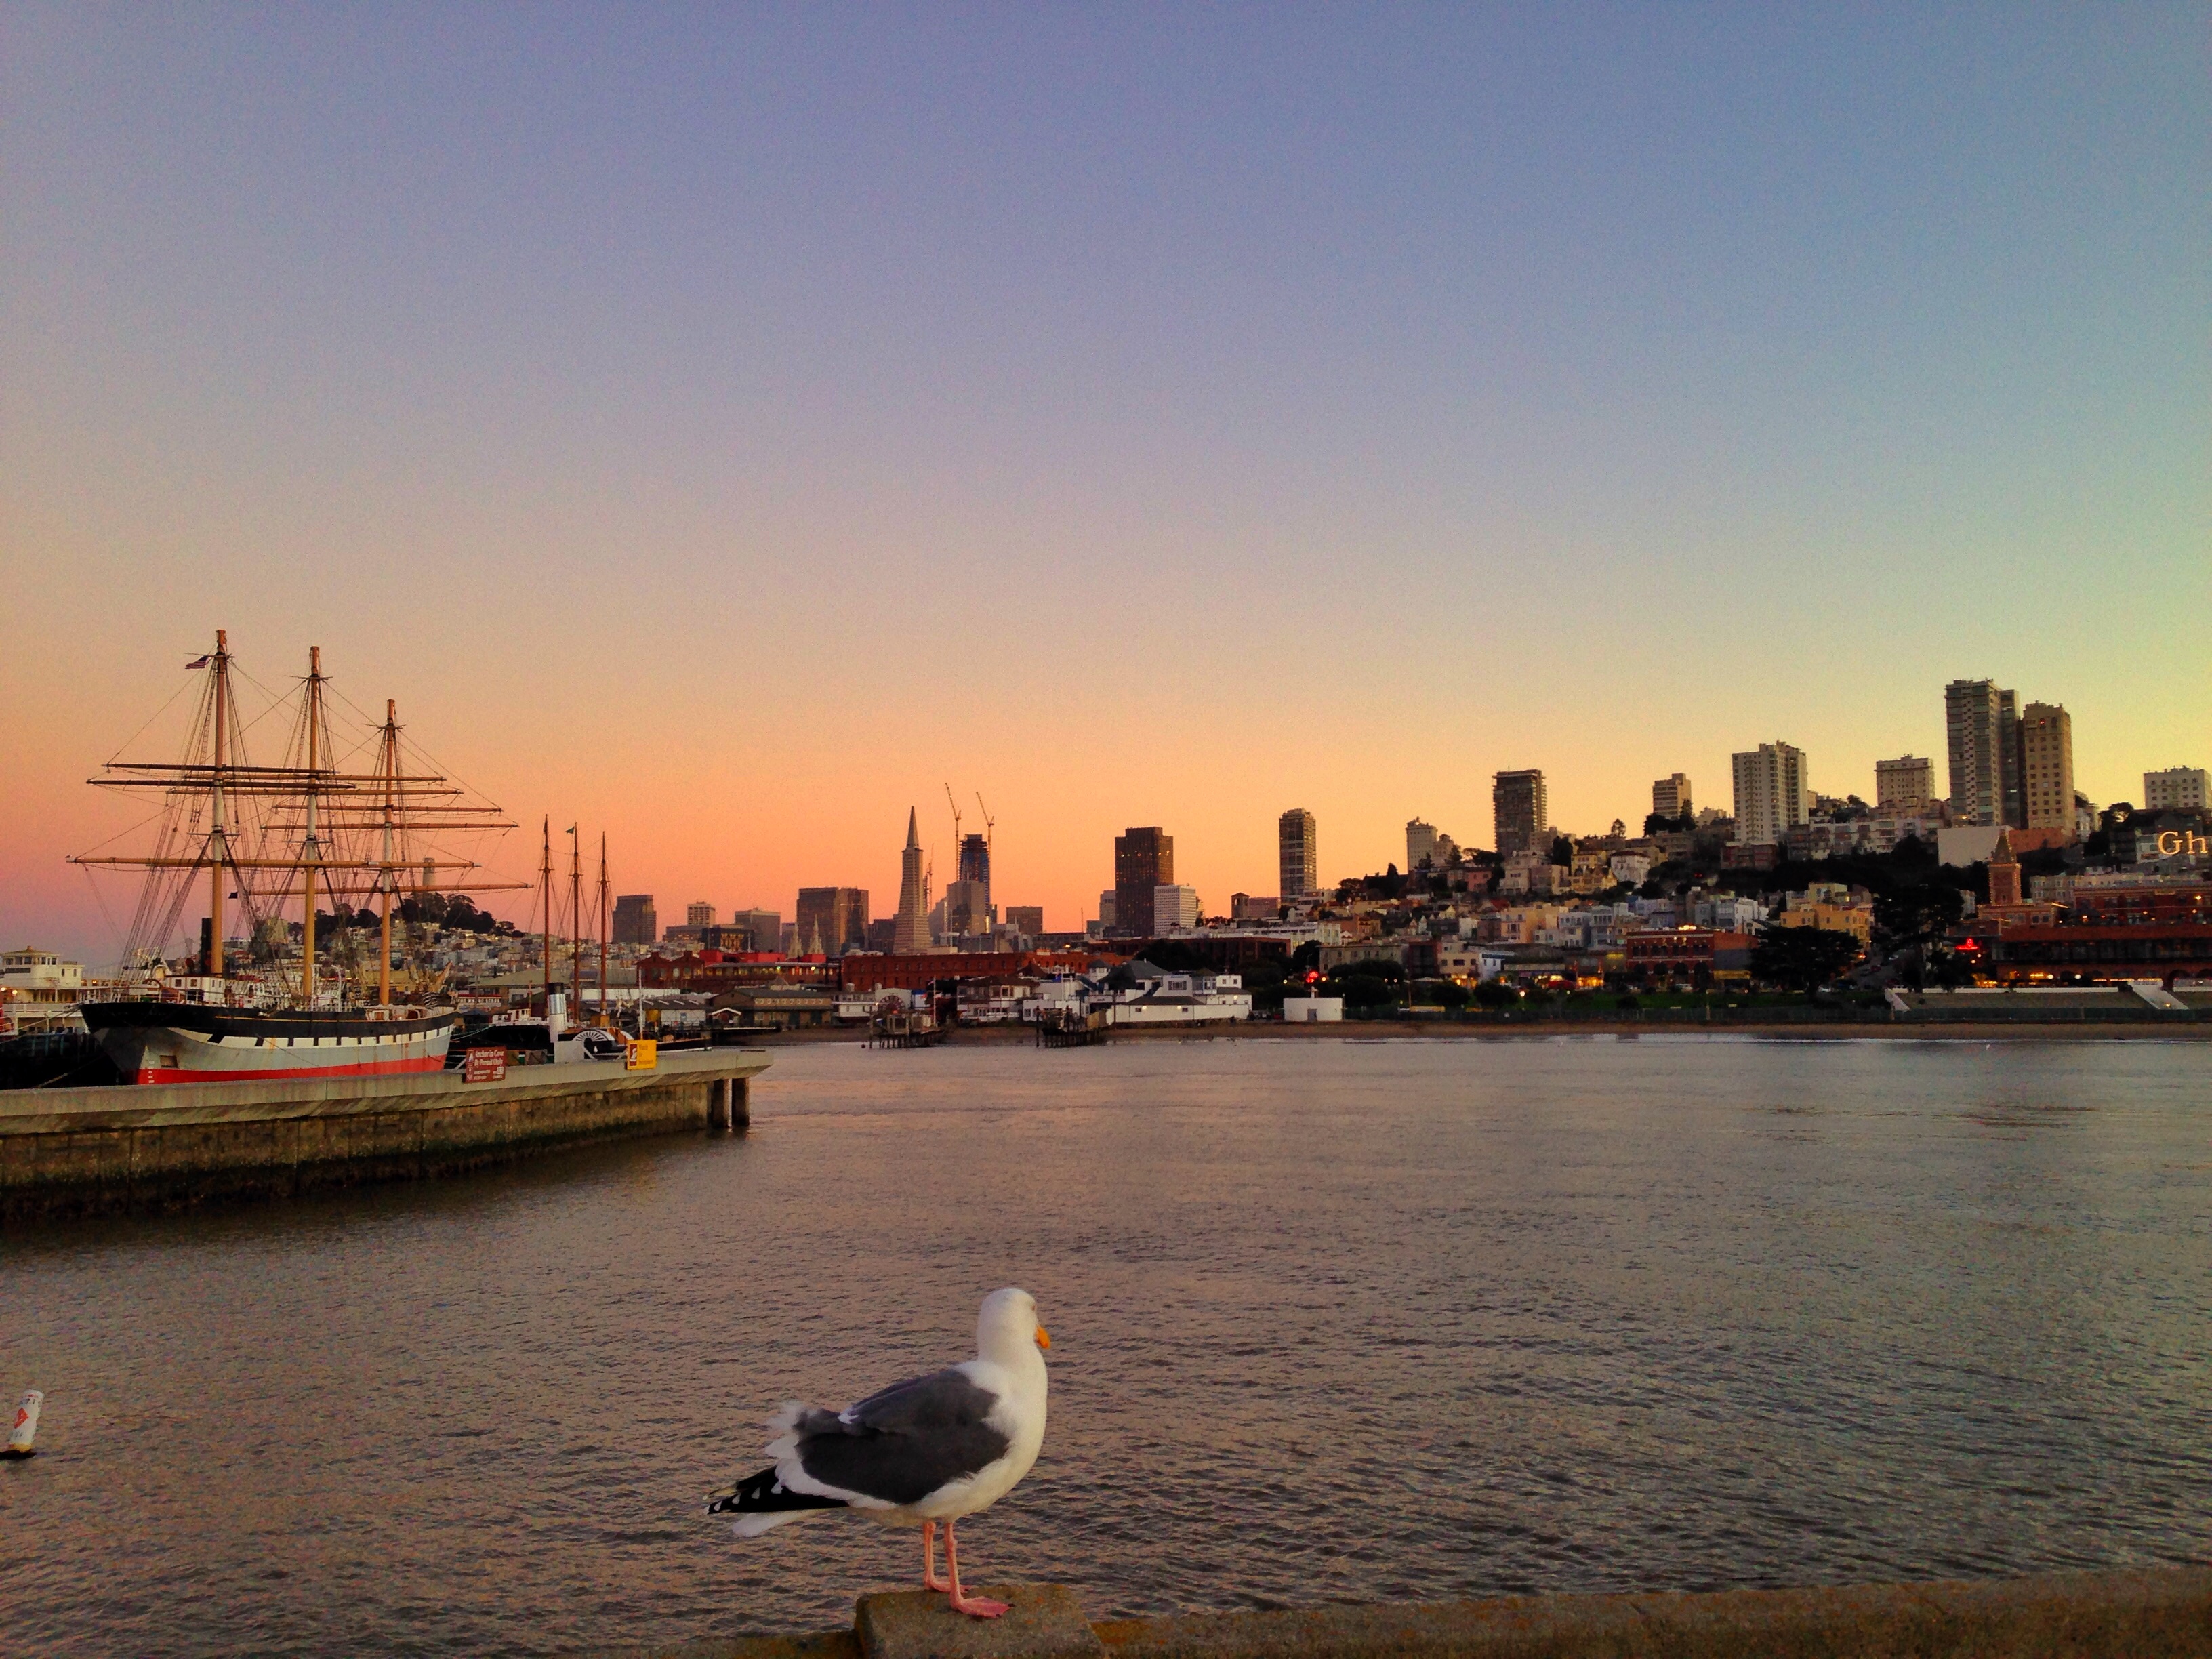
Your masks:
<svg viewBox="0 0 2212 1659"><path fill-rule="evenodd" d="M0 1221L281 1197L745 1121L757 1048L458 1073L0 1093Z"/></svg>

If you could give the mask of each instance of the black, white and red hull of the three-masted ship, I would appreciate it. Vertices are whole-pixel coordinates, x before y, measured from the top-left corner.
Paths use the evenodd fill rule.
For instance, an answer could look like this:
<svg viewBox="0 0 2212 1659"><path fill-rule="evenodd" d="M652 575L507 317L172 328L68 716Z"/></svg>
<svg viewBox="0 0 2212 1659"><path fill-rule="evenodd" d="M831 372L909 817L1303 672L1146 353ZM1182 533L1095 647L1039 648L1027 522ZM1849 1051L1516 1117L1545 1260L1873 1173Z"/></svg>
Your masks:
<svg viewBox="0 0 2212 1659"><path fill-rule="evenodd" d="M394 1077L442 1071L453 1013L221 1009L188 1002L86 1002L84 1026L133 1084Z"/></svg>

